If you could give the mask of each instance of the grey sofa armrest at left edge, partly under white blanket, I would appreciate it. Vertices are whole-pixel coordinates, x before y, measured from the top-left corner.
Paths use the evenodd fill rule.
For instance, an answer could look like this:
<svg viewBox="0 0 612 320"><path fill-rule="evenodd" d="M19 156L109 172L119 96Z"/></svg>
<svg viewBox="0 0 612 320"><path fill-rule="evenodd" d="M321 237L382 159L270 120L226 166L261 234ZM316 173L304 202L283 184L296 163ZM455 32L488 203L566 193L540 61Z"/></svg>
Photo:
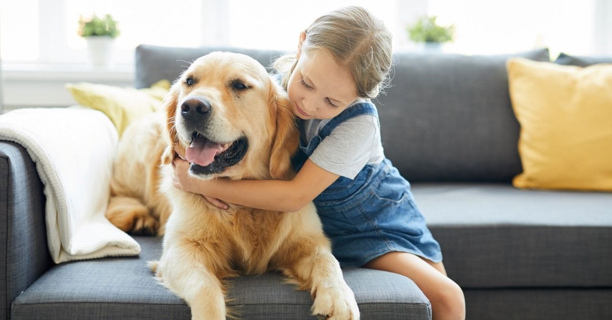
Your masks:
<svg viewBox="0 0 612 320"><path fill-rule="evenodd" d="M53 265L47 248L43 184L28 152L0 141L0 319Z"/></svg>

